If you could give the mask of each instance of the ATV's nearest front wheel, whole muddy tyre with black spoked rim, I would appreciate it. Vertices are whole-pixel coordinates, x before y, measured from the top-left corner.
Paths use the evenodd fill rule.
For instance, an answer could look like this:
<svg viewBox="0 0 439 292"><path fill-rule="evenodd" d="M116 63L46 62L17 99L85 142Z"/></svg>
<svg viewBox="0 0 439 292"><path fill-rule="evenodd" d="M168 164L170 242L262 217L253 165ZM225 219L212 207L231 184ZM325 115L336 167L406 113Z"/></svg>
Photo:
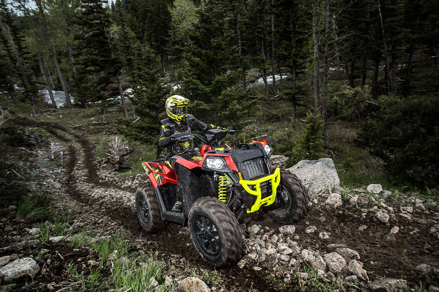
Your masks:
<svg viewBox="0 0 439 292"><path fill-rule="evenodd" d="M203 259L215 267L230 267L242 253L241 229L226 204L213 197L199 198L188 218L192 242Z"/></svg>

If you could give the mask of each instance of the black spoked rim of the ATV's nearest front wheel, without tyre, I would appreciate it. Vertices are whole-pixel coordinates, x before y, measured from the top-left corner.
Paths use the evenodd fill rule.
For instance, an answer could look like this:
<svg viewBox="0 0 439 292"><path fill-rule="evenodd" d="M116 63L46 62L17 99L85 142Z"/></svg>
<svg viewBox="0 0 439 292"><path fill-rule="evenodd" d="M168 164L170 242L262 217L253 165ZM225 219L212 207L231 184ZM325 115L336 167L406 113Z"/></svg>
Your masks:
<svg viewBox="0 0 439 292"><path fill-rule="evenodd" d="M215 224L204 215L195 217L195 237L199 246L209 256L216 256L221 250L221 240Z"/></svg>

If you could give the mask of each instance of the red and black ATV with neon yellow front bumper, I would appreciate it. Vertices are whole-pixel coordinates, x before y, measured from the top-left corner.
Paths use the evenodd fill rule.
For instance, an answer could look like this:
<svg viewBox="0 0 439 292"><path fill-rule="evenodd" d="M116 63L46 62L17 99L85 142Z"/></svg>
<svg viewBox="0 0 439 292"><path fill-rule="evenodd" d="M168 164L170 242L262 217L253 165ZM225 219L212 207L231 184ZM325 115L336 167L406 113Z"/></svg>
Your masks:
<svg viewBox="0 0 439 292"><path fill-rule="evenodd" d="M212 129L205 137L181 133L173 141L189 145L176 153L182 157L174 165L167 158L142 162L150 183L136 191L137 217L147 232L162 231L169 222L188 226L195 248L216 267L232 266L241 257L238 220L244 213L262 210L274 221L291 224L308 206L297 176L271 166L273 148L267 141L233 148L221 144L227 133L234 128ZM194 138L204 143L201 150L193 147ZM182 212L172 211L177 193Z"/></svg>

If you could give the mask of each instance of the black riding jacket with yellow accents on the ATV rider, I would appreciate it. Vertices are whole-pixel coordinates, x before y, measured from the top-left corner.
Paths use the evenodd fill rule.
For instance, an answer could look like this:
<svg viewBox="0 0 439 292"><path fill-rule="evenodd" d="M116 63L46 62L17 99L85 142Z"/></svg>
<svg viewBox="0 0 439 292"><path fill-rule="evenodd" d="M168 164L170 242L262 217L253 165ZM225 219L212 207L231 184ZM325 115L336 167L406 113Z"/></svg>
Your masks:
<svg viewBox="0 0 439 292"><path fill-rule="evenodd" d="M160 130L160 138L158 138L158 146L168 147L168 157L175 155L170 147L174 143L170 137L172 134L185 132L192 133L192 131L207 132L211 129L223 129L222 127L215 127L213 124L206 124L195 119L192 115L187 115L186 127L175 123L171 118L161 120L160 122L162 123L162 129Z"/></svg>

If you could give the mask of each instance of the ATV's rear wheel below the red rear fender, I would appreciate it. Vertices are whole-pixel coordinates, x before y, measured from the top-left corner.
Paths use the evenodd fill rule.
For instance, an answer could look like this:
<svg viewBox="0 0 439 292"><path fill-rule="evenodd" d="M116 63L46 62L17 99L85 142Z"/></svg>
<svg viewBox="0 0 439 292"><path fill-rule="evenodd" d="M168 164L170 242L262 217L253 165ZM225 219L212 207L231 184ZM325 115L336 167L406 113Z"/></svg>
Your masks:
<svg viewBox="0 0 439 292"><path fill-rule="evenodd" d="M146 232L155 233L168 225L167 221L162 220L157 195L151 184L143 184L137 188L136 212Z"/></svg>

